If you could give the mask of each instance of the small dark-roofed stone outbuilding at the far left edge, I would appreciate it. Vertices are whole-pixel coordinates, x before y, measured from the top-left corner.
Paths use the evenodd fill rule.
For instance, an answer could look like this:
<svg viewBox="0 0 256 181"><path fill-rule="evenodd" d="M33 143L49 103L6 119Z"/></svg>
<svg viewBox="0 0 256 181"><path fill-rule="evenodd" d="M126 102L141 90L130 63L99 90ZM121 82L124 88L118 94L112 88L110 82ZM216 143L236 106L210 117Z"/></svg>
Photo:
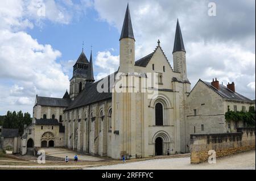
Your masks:
<svg viewBox="0 0 256 181"><path fill-rule="evenodd" d="M10 148L13 153L19 153L20 151L20 137L19 129L6 129L2 128L0 136L0 148Z"/></svg>

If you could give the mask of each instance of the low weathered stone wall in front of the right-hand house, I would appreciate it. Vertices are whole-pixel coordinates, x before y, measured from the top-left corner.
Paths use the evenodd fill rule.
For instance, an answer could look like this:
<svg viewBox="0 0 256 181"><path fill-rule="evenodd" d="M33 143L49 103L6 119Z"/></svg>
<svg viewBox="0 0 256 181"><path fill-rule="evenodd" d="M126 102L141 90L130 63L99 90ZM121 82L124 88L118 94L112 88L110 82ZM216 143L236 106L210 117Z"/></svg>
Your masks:
<svg viewBox="0 0 256 181"><path fill-rule="evenodd" d="M223 157L255 149L255 128L237 128L236 133L191 134L191 163L208 161L208 151Z"/></svg>

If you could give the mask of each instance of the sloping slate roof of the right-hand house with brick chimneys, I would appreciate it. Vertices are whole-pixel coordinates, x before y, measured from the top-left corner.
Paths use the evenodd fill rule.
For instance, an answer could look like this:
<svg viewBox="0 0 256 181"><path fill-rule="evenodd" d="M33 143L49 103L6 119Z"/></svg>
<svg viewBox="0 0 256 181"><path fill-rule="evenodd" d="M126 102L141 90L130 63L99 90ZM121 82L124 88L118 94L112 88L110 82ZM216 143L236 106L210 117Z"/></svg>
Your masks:
<svg viewBox="0 0 256 181"><path fill-rule="evenodd" d="M199 80L202 81L201 79L199 79ZM254 103L253 100L251 100L249 98L246 98L245 96L243 96L241 94L238 94L237 92L233 92L233 91L229 90L224 85L220 84L220 90L217 90L215 87L213 87L211 85L210 82L207 82L207 81L202 81L202 82L205 83L205 85L207 85L210 89L212 89L213 91L217 92L217 94L220 95L224 99Z"/></svg>

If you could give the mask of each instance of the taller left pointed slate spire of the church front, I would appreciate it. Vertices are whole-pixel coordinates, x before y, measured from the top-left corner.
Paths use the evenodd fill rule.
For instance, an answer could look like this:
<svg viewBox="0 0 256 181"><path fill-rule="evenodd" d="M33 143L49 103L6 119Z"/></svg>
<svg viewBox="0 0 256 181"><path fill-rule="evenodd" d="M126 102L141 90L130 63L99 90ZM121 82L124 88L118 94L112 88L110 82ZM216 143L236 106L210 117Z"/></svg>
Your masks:
<svg viewBox="0 0 256 181"><path fill-rule="evenodd" d="M134 39L133 35L133 26L131 25L131 15L130 15L130 9L129 9L129 3L127 4L126 12L125 12L125 19L123 20L123 27L120 39L129 37L130 39ZM135 41L135 39L134 39Z"/></svg>

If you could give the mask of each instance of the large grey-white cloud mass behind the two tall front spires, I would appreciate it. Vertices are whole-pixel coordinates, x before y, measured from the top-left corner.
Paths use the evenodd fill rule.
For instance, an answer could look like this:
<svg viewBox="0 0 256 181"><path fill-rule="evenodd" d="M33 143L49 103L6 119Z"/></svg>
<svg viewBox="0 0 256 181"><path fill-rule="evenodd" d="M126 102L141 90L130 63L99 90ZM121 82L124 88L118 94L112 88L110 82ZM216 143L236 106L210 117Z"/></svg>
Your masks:
<svg viewBox="0 0 256 181"><path fill-rule="evenodd" d="M172 64L176 20L179 18L192 87L199 78L210 81L217 77L223 83L234 81L238 92L253 99L255 90L247 85L255 80L255 2L216 1L215 17L207 15L208 2L129 1L136 40L135 57L138 60L151 53L160 39ZM126 3L95 0L94 9L100 20L121 32Z"/></svg>

